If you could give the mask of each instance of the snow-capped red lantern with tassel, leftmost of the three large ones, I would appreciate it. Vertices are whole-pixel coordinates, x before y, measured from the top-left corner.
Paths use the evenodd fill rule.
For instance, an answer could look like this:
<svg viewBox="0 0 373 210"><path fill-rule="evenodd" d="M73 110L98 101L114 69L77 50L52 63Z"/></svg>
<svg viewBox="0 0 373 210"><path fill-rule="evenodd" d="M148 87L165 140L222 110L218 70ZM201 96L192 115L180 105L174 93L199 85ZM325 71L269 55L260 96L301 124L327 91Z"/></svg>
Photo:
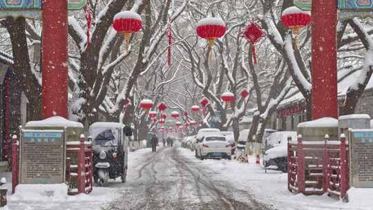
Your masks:
<svg viewBox="0 0 373 210"><path fill-rule="evenodd" d="M113 28L117 32L124 34L126 48L128 48L131 34L140 31L142 28L141 16L132 11L119 12L114 16Z"/></svg>

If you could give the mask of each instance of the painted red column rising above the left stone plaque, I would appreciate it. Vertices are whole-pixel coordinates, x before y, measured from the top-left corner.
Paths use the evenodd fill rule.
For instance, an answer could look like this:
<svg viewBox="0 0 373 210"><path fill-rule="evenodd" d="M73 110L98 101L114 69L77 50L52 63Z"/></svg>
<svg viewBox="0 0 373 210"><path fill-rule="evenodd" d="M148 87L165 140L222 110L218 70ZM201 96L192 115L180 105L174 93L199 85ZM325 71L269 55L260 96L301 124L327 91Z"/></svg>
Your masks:
<svg viewBox="0 0 373 210"><path fill-rule="evenodd" d="M43 0L42 117L68 117L67 0Z"/></svg>

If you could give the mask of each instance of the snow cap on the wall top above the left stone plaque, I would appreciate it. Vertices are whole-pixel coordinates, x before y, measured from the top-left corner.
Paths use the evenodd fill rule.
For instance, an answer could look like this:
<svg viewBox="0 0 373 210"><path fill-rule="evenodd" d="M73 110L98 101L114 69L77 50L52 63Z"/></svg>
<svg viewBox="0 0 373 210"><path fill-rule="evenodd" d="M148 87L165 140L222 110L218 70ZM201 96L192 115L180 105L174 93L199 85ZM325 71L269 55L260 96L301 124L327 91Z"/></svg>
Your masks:
<svg viewBox="0 0 373 210"><path fill-rule="evenodd" d="M30 121L26 123L26 127L68 127L68 128L84 128L80 122L66 120L64 117L54 116L45 120Z"/></svg>

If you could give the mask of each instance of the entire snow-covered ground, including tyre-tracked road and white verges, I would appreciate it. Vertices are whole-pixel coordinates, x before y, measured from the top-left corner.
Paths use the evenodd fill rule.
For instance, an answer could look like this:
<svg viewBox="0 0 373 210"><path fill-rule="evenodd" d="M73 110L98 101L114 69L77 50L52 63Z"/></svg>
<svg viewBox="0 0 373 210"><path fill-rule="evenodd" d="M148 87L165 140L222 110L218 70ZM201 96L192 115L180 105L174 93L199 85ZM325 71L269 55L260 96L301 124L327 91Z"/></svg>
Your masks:
<svg viewBox="0 0 373 210"><path fill-rule="evenodd" d="M254 164L235 160L198 160L188 149L140 149L130 153L127 183L112 181L109 187L94 187L88 195L68 196L35 193L8 194L4 210L39 209L199 209L211 203L230 209L257 207L256 209L354 209L373 207L373 189L352 189L350 202L334 200L327 195L294 195L287 191L287 174L263 170ZM6 176L10 191L9 173ZM23 189L24 191L24 189ZM26 191L27 192L27 191ZM232 202L233 201L233 202ZM238 204L238 206L236 206ZM115 206L118 205L118 206ZM113 208L110 208L113 207ZM223 208L224 209L224 208ZM245 208L244 208L245 209Z"/></svg>

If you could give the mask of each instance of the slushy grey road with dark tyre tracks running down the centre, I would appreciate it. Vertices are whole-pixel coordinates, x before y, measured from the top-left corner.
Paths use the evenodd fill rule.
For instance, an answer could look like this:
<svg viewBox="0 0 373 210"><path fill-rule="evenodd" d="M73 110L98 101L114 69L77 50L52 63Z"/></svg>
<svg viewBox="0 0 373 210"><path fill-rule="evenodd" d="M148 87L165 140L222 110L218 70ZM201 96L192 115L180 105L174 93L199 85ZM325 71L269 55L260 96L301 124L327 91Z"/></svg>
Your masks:
<svg viewBox="0 0 373 210"><path fill-rule="evenodd" d="M176 147L148 153L108 209L269 209L251 192L212 180L212 173Z"/></svg>

